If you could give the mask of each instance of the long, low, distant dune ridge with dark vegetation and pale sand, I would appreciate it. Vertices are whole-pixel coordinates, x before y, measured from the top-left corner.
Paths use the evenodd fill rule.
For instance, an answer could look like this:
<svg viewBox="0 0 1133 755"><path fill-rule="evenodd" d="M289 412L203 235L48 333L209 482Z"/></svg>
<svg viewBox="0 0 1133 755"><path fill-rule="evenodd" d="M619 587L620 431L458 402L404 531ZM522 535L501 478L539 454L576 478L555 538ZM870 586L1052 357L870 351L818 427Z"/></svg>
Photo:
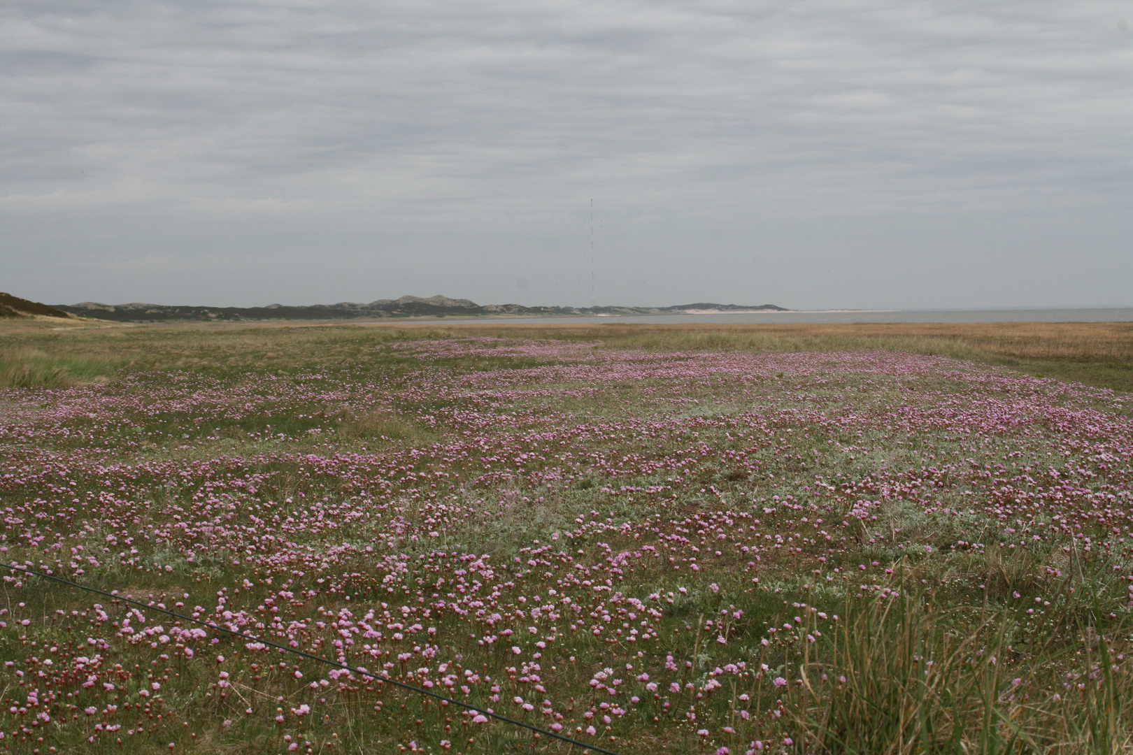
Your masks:
<svg viewBox="0 0 1133 755"><path fill-rule="evenodd" d="M7 295L7 294L5 294ZM12 297L14 298L14 297ZM14 298L15 299L15 298ZM25 301L20 299L19 301ZM34 302L28 302L34 303ZM44 304L39 304L45 307ZM340 301L337 304L292 307L178 307L170 304L103 304L84 301L77 304L56 304L58 316L67 312L103 320L279 320L279 319L355 319L375 317L491 317L491 316L614 316L614 315L683 315L715 312L786 311L775 304L741 306L700 302L676 307L525 307L522 304L477 304L468 299L436 295L378 299L368 304Z"/></svg>

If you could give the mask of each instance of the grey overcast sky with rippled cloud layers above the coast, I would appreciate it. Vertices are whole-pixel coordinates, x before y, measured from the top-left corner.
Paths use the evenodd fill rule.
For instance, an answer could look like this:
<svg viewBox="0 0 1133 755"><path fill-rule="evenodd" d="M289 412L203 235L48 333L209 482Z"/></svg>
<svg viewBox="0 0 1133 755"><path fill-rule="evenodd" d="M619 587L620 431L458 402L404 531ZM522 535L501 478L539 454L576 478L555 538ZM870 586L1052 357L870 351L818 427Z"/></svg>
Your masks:
<svg viewBox="0 0 1133 755"><path fill-rule="evenodd" d="M0 290L1133 304L1133 6L0 5Z"/></svg>

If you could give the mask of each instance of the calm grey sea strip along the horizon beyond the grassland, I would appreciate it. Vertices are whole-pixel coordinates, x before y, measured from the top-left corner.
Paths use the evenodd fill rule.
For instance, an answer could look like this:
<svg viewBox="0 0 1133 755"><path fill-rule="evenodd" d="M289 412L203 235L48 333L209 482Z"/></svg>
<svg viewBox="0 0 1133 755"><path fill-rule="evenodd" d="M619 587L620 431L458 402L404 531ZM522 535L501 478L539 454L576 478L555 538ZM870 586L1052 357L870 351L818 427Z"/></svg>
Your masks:
<svg viewBox="0 0 1133 755"><path fill-rule="evenodd" d="M639 315L627 317L444 317L436 319L400 320L436 321L449 325L573 325L597 323L649 323L678 325L680 323L1110 323L1133 321L1133 307L1111 309L942 309L942 310L834 310L820 312L757 312L753 315ZM382 320L383 324L390 320ZM374 323L375 325L377 323ZM367 323L359 323L367 325Z"/></svg>

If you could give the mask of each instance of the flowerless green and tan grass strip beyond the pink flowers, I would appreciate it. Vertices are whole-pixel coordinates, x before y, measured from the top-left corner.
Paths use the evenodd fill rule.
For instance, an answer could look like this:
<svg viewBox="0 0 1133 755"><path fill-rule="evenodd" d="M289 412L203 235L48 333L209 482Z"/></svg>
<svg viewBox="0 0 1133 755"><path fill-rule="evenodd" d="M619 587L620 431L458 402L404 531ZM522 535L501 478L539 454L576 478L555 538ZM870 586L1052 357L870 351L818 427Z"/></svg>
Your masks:
<svg viewBox="0 0 1133 755"><path fill-rule="evenodd" d="M905 351L1007 367L1029 375L1133 391L1133 325L1126 323L859 324L782 326L467 326L71 329L10 332L0 323L0 385L54 387L129 370L214 375L287 374L298 366L374 362L375 349L406 338L486 335L597 342L647 351ZM387 369L411 360L385 352ZM460 371L522 367L522 360L449 360Z"/></svg>

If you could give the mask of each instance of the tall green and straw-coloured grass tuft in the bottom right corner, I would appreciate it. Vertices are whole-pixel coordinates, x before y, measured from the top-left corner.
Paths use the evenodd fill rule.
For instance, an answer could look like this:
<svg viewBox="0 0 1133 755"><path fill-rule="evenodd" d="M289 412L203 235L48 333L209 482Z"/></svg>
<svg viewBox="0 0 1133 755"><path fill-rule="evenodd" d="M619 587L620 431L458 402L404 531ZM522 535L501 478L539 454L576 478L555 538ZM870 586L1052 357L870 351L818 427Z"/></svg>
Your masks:
<svg viewBox="0 0 1133 755"><path fill-rule="evenodd" d="M1100 632L1099 611L1067 597L1048 626L1024 627L1011 608L962 616L904 586L849 599L829 636L800 627L776 701L790 752L1133 752L1133 683L1111 650L1122 633Z"/></svg>

